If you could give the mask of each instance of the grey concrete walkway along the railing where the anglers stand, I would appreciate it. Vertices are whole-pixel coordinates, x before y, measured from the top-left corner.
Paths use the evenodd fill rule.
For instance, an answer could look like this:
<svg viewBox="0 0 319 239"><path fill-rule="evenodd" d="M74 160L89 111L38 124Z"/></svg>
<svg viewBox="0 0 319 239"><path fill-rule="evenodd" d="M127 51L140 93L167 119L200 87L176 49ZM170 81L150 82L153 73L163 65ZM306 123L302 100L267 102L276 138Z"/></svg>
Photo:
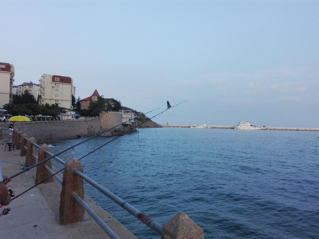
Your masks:
<svg viewBox="0 0 319 239"><path fill-rule="evenodd" d="M0 140L2 142L4 140ZM25 163L25 157L20 157L20 150L4 151L5 145L0 145L0 159L12 163ZM21 169L19 165L2 162L2 174L11 176ZM35 184L35 168L15 177L7 184L14 188L15 195L25 191ZM59 175L62 177L62 175ZM24 239L66 239L66 238L109 238L100 226L85 212L84 221L61 226L59 224L61 184L54 179L53 183L41 184L14 199L8 206L9 214L0 217L0 238ZM85 195L85 202L112 228L121 239L136 239L129 230L115 220L110 214L97 205L93 199ZM122 208L119 208L122 210Z"/></svg>

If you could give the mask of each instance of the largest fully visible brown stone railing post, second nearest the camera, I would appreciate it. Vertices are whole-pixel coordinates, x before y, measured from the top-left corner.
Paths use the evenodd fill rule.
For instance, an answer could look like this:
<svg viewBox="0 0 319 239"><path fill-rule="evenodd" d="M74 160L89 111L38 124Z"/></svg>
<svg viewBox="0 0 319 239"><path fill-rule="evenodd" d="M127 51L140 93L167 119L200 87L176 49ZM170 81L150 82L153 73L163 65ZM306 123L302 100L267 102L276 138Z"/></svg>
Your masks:
<svg viewBox="0 0 319 239"><path fill-rule="evenodd" d="M61 202L60 202L60 223L67 225L83 221L84 209L73 198L72 194L75 192L81 199L84 199L84 188L82 178L73 174L73 169L77 169L83 173L83 168L76 158L72 157L69 162L65 164Z"/></svg>

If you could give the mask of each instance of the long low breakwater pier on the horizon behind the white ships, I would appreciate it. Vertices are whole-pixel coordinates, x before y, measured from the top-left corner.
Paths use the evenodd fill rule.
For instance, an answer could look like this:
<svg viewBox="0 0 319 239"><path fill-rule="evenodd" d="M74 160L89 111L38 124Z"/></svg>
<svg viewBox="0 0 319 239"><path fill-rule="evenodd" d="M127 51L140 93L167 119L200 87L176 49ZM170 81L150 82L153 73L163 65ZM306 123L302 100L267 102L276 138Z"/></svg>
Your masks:
<svg viewBox="0 0 319 239"><path fill-rule="evenodd" d="M160 124L162 127L173 127L173 128L193 128L194 125L183 125L183 124ZM200 126L198 128L207 129L234 129L234 126L229 125L207 125ZM307 127L266 127L265 130L289 130L289 131L319 131L319 128L307 128Z"/></svg>

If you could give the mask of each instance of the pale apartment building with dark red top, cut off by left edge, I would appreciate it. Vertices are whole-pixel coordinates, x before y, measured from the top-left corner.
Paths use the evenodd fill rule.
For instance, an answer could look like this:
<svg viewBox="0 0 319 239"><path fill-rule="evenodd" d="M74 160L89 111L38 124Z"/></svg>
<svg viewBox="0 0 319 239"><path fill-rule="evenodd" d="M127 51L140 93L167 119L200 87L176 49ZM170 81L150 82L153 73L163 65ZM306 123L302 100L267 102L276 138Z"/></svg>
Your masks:
<svg viewBox="0 0 319 239"><path fill-rule="evenodd" d="M0 109L3 105L12 103L13 97L14 66L0 62Z"/></svg>

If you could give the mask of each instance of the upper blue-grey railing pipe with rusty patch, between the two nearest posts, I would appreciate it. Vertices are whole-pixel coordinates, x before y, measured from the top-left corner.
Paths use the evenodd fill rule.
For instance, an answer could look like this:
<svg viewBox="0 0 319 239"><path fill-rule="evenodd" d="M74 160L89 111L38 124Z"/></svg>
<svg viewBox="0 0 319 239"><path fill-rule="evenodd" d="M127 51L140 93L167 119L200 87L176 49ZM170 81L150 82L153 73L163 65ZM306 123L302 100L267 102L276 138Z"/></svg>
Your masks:
<svg viewBox="0 0 319 239"><path fill-rule="evenodd" d="M115 203L123 207L126 211L128 211L130 214L135 216L138 220L142 221L145 225L152 228L156 233L161 235L162 233L162 225L160 225L158 222L153 221L152 218L146 216L145 214L141 213L137 208L130 205L129 203L125 202L123 199L116 196L113 192L108 191L106 188L104 188L102 185L98 184L97 182L93 181L91 178L87 177L83 173L81 173L79 170L74 169L73 173L81 177L83 180L91 184L93 187L95 187L97 190L105 194L108 198L113 200Z"/></svg>

